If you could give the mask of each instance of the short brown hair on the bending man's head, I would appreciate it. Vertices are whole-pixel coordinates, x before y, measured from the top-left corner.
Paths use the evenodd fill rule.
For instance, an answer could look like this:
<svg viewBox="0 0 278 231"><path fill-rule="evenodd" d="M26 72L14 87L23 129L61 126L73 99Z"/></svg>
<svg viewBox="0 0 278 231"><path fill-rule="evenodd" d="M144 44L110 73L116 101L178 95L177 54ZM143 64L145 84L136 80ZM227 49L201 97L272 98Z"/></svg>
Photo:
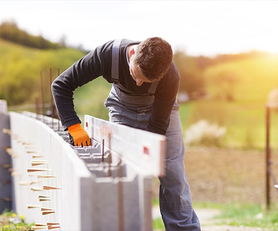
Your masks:
<svg viewBox="0 0 278 231"><path fill-rule="evenodd" d="M171 45L159 37L140 42L134 54L134 64L150 81L161 79L169 69L172 59Z"/></svg>

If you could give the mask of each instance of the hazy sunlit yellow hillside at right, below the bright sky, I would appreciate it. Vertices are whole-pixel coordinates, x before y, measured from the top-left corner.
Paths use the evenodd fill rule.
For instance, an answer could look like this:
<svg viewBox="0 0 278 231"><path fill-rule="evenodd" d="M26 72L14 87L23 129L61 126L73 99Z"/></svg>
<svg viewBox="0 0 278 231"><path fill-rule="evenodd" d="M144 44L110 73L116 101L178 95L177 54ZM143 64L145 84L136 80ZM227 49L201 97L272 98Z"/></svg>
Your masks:
<svg viewBox="0 0 278 231"><path fill-rule="evenodd" d="M278 87L278 55L218 63L205 69L204 79L215 98L266 103L270 91Z"/></svg>

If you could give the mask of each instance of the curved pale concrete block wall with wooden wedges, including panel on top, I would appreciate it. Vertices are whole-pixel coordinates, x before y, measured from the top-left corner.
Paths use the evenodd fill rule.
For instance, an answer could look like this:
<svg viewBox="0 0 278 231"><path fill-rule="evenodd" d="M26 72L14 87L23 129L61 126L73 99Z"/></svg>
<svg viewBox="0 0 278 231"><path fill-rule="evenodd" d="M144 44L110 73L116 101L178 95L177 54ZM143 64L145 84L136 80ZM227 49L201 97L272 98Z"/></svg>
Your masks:
<svg viewBox="0 0 278 231"><path fill-rule="evenodd" d="M73 147L58 120L30 112L9 115L11 147L16 154L14 209L27 222L43 224L45 230L53 228L50 224L64 231L152 230L152 179L163 173L163 164L156 162L164 155L164 137L87 116L92 146ZM100 134L103 127L114 132L108 137ZM144 135L142 147L138 139L119 142L123 140L119 130L125 135ZM116 148L116 141L126 147ZM139 150L132 149L132 142Z"/></svg>

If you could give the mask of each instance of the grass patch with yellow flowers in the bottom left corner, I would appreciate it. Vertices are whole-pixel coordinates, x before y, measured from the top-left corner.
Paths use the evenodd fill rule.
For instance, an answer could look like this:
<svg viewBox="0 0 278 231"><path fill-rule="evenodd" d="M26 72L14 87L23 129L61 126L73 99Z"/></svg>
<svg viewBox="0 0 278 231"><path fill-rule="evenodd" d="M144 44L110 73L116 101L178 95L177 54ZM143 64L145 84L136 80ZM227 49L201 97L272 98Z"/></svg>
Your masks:
<svg viewBox="0 0 278 231"><path fill-rule="evenodd" d="M24 221L24 217L20 217L13 211L4 210L0 214L0 231L30 231L31 225Z"/></svg>

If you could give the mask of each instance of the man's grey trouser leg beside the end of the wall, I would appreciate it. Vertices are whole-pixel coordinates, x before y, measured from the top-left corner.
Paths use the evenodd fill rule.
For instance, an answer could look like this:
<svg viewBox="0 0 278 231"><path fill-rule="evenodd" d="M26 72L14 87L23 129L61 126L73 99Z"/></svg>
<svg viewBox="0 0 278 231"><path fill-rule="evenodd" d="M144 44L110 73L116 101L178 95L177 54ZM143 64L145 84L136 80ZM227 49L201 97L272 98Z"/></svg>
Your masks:
<svg viewBox="0 0 278 231"><path fill-rule="evenodd" d="M199 219L192 208L184 168L184 144L176 102L166 132L165 177L159 178L159 206L166 231L198 231Z"/></svg>

